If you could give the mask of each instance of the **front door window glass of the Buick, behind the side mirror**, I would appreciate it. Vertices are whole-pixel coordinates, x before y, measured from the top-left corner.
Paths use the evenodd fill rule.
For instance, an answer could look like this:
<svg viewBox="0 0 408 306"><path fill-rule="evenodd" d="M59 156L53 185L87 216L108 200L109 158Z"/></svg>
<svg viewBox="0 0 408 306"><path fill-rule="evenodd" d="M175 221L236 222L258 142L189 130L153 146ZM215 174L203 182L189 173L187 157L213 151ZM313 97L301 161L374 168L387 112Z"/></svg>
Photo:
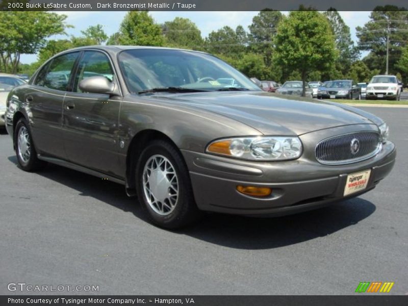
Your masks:
<svg viewBox="0 0 408 306"><path fill-rule="evenodd" d="M113 81L113 70L109 58L96 51L87 51L80 60L77 74L75 75L74 92L82 92L79 83L87 78L102 75L109 81Z"/></svg>

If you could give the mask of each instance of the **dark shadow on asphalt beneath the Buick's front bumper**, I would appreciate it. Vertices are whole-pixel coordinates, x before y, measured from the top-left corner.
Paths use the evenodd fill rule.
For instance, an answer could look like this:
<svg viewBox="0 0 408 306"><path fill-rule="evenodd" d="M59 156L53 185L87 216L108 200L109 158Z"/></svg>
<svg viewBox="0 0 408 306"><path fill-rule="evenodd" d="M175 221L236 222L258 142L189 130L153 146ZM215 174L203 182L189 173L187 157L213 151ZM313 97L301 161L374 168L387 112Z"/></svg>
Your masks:
<svg viewBox="0 0 408 306"><path fill-rule="evenodd" d="M374 211L372 202L352 198L325 208L273 218L212 214L183 234L231 248L269 249L334 234Z"/></svg>

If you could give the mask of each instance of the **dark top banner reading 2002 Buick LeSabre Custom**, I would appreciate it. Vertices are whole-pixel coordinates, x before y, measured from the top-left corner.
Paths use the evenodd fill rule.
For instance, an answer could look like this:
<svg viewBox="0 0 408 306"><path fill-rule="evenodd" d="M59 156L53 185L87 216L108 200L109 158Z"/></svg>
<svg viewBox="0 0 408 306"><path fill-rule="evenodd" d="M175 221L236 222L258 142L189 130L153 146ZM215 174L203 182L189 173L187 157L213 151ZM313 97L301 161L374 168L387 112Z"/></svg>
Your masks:
<svg viewBox="0 0 408 306"><path fill-rule="evenodd" d="M298 10L299 6L325 11L371 11L376 6L406 7L406 0L2 0L3 10L55 11L278 11ZM390 10L390 7L389 7ZM392 10L392 8L391 8Z"/></svg>

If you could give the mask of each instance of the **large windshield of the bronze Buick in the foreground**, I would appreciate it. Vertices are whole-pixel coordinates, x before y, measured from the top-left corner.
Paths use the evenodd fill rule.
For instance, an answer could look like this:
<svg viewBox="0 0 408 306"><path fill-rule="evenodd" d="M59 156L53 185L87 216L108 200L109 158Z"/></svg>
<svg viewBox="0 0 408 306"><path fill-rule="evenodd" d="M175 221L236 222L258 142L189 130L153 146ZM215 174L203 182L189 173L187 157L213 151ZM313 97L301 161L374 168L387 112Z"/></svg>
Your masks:
<svg viewBox="0 0 408 306"><path fill-rule="evenodd" d="M180 88L215 91L234 88L261 91L241 72L220 59L199 52L170 49L132 49L119 55L129 91Z"/></svg>

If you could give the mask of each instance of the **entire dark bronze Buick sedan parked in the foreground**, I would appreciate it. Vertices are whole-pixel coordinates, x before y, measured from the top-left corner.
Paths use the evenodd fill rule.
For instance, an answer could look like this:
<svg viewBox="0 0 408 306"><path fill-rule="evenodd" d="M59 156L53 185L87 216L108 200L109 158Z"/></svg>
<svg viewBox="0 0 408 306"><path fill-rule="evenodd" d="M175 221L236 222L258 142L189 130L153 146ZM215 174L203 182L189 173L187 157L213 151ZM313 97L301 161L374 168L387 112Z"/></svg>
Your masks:
<svg viewBox="0 0 408 306"><path fill-rule="evenodd" d="M121 183L167 228L200 211L282 215L358 196L396 156L370 113L263 92L180 49L68 50L11 91L6 121L23 170L50 162Z"/></svg>

